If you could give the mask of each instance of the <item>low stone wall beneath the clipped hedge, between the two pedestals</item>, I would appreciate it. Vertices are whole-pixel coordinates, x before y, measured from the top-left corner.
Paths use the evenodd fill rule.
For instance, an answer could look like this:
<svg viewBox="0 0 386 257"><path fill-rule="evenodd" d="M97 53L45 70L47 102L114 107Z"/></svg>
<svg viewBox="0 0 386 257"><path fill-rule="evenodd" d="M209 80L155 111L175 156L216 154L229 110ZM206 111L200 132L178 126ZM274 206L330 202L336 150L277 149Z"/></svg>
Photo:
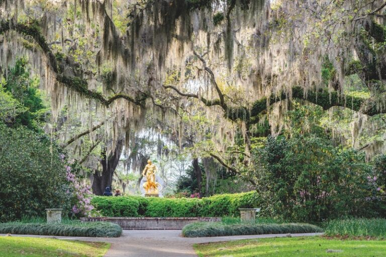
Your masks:
<svg viewBox="0 0 386 257"><path fill-rule="evenodd" d="M123 229L182 229L186 224L204 221L221 221L218 217L92 217L80 218L83 222L109 221Z"/></svg>

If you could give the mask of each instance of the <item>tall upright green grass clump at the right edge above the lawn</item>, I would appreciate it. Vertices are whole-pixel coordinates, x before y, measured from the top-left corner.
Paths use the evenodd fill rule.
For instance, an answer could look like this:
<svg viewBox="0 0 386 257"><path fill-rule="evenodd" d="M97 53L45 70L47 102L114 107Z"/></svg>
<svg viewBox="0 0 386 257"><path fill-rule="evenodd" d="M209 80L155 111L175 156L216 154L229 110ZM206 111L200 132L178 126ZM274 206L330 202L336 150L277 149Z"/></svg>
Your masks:
<svg viewBox="0 0 386 257"><path fill-rule="evenodd" d="M386 236L386 219L355 218L332 220L326 226L326 235Z"/></svg>

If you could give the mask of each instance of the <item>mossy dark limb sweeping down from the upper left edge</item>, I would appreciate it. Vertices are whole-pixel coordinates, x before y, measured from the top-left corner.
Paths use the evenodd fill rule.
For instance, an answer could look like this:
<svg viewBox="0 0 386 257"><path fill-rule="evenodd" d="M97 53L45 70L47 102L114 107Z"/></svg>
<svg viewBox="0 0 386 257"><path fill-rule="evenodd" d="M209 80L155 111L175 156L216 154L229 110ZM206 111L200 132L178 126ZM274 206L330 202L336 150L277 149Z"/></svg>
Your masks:
<svg viewBox="0 0 386 257"><path fill-rule="evenodd" d="M88 84L85 79L76 76L64 76L63 74L61 74L58 68L58 63L56 61L55 55L49 48L46 38L41 33L37 22L23 24L10 20L0 21L0 34L4 34L8 31L16 31L22 35L29 36L34 39L35 42L42 49L43 53L46 55L50 69L56 74L56 80L60 84L67 86L68 88L78 92L82 96L98 100L105 106L109 106L113 101L120 98L126 99L137 105L142 105L143 101L147 98L147 95L143 93L140 93L136 97L132 97L128 94L123 93L118 93L110 97L105 97L99 92L89 90L87 88Z"/></svg>

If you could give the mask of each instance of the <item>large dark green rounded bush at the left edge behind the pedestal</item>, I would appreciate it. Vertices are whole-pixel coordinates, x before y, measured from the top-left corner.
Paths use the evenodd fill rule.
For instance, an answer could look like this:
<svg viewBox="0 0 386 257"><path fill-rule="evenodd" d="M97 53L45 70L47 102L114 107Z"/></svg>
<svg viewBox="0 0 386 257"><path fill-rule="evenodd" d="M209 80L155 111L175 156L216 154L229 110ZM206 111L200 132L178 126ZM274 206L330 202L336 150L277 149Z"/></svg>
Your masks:
<svg viewBox="0 0 386 257"><path fill-rule="evenodd" d="M0 124L0 220L43 216L45 208L69 210L65 168L44 137Z"/></svg>

